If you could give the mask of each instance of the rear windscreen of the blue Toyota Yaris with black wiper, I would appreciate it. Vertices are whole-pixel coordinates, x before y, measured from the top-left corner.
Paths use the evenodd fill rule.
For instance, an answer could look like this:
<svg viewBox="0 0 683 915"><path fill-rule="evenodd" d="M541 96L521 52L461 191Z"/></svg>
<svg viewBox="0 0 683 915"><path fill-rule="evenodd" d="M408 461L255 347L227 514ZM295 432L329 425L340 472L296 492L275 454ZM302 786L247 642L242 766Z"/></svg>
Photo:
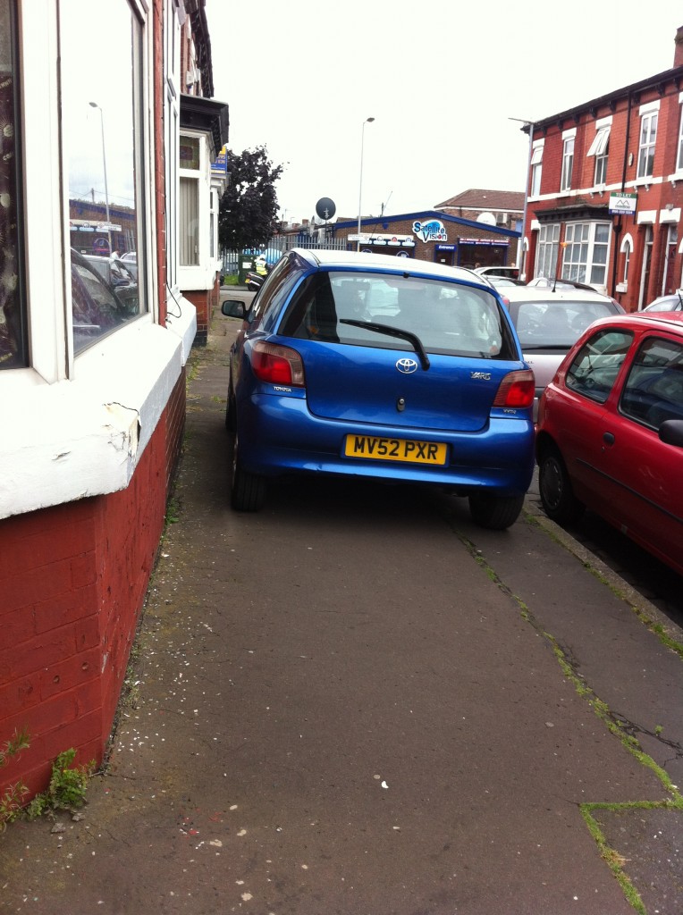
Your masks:
<svg viewBox="0 0 683 915"><path fill-rule="evenodd" d="M396 350L413 349L414 336L431 353L517 358L493 291L405 274L311 274L292 297L279 332Z"/></svg>

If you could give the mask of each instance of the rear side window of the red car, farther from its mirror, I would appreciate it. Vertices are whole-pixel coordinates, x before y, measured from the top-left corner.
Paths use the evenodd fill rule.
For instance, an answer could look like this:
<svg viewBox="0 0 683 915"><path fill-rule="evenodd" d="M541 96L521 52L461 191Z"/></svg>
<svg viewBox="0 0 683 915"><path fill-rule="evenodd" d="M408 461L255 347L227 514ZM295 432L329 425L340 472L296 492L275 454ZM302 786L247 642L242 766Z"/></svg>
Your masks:
<svg viewBox="0 0 683 915"><path fill-rule="evenodd" d="M565 383L570 391L604 404L612 392L633 333L606 328L586 340L569 365Z"/></svg>

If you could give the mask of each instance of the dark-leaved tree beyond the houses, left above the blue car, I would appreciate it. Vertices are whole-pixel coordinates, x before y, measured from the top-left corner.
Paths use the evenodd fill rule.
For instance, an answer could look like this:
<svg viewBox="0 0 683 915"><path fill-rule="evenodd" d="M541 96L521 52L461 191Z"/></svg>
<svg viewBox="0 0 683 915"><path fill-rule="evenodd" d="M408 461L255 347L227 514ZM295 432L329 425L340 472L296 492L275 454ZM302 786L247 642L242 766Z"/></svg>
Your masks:
<svg viewBox="0 0 683 915"><path fill-rule="evenodd" d="M283 166L274 166L266 146L228 153L230 182L221 199L218 238L223 250L246 251L266 244L277 229L276 180Z"/></svg>

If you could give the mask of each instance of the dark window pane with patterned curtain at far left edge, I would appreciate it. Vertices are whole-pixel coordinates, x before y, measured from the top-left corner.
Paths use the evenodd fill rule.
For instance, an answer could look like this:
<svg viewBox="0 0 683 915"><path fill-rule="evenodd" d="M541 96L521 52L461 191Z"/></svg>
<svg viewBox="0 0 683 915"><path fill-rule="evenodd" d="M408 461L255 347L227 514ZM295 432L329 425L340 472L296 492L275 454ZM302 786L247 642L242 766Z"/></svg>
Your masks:
<svg viewBox="0 0 683 915"><path fill-rule="evenodd" d="M11 0L0 0L0 369L27 365L26 296L20 246L16 22Z"/></svg>

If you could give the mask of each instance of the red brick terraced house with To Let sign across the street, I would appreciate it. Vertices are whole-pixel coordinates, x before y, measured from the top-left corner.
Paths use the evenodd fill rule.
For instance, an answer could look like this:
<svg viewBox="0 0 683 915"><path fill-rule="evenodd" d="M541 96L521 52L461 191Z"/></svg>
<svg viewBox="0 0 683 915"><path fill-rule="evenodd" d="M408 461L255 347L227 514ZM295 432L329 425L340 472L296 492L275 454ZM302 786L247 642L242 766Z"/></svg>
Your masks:
<svg viewBox="0 0 683 915"><path fill-rule="evenodd" d="M527 279L589 283L627 311L683 285L683 28L671 69L522 129Z"/></svg>

